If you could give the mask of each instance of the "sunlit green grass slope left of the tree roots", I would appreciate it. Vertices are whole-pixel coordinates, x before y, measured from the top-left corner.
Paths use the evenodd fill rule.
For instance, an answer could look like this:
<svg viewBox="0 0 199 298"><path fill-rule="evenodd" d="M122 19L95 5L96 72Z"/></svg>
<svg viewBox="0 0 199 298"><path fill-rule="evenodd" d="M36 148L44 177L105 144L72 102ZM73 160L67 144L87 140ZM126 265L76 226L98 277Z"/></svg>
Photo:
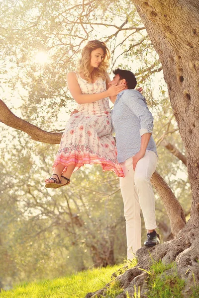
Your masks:
<svg viewBox="0 0 199 298"><path fill-rule="evenodd" d="M15 286L13 290L0 292L0 298L85 298L87 293L103 288L110 282L112 273L124 265L91 269L55 280L25 283ZM135 265L129 264L126 270ZM117 293L118 288L118 284L113 281L107 292L109 297L114 297L111 295Z"/></svg>

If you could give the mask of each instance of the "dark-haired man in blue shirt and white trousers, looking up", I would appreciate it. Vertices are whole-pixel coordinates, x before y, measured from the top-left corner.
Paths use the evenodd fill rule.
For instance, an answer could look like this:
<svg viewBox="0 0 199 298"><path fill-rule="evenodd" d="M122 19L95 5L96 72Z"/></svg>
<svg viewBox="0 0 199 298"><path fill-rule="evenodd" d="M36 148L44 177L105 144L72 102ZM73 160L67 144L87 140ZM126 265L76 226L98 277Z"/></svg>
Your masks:
<svg viewBox="0 0 199 298"><path fill-rule="evenodd" d="M125 177L120 177L120 188L124 202L126 221L127 258L141 247L141 218L142 209L147 240L145 246L160 243L155 228L155 197L150 182L158 161L156 144L151 135L153 116L148 110L145 98L134 90L137 81L130 71L116 69L113 80L109 85L124 83L126 88L114 98L111 113L115 130L117 158L124 171Z"/></svg>

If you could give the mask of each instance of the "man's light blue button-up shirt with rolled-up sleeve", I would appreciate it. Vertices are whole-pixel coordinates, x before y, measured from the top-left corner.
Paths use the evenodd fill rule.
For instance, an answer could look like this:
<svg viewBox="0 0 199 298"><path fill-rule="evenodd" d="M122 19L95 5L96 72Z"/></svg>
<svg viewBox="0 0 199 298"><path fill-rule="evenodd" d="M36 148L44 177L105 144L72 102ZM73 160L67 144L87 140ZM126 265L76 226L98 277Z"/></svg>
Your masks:
<svg viewBox="0 0 199 298"><path fill-rule="evenodd" d="M143 95L137 90L126 89L117 95L111 119L115 130L117 159L124 162L140 150L141 136L152 133L153 116ZM147 150L157 154L152 136Z"/></svg>

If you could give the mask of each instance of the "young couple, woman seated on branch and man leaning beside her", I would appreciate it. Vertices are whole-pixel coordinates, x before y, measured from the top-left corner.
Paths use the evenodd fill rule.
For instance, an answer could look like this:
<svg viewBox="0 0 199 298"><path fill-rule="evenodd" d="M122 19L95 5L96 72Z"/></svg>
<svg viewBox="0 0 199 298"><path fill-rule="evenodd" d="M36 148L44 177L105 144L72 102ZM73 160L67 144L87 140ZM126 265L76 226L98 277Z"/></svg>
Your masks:
<svg viewBox="0 0 199 298"><path fill-rule="evenodd" d="M46 188L70 183L74 171L98 163L120 179L127 234L127 258L141 247L142 209L147 229L146 246L159 244L155 228L155 198L150 178L158 156L151 136L153 117L145 98L134 90L137 81L130 71L115 70L110 80L109 51L103 42L90 41L82 51L78 71L67 75L68 88L78 112L67 122ZM108 97L114 103L111 112ZM112 136L112 125L115 141Z"/></svg>

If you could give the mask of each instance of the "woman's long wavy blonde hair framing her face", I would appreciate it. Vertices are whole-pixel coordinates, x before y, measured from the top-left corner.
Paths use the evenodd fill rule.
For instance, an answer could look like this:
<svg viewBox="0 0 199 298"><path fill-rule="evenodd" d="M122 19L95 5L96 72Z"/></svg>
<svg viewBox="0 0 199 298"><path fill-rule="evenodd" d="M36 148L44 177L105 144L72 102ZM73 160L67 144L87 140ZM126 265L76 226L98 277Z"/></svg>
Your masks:
<svg viewBox="0 0 199 298"><path fill-rule="evenodd" d="M93 72L90 73L90 62L91 62L91 52L101 48L104 53L104 57L98 68L94 68ZM84 76L88 82L92 82L94 78L101 77L106 79L108 68L108 60L110 59L110 52L106 47L106 44L100 40L91 40L82 50L82 58L80 59L79 64L79 73Z"/></svg>

